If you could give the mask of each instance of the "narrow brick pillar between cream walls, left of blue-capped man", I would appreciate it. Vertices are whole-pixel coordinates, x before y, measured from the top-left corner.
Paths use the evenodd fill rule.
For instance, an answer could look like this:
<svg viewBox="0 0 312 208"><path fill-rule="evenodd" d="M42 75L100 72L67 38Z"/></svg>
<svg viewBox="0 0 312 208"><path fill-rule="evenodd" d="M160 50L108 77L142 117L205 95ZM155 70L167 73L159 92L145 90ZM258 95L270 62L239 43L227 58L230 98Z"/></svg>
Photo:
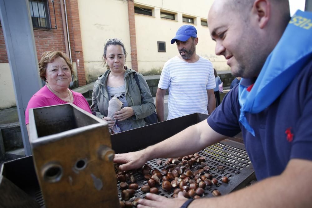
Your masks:
<svg viewBox="0 0 312 208"><path fill-rule="evenodd" d="M130 46L131 46L131 66L133 70L138 71L138 57L137 57L137 50L136 50L133 0L128 0L128 18L129 18L129 32L130 32Z"/></svg>

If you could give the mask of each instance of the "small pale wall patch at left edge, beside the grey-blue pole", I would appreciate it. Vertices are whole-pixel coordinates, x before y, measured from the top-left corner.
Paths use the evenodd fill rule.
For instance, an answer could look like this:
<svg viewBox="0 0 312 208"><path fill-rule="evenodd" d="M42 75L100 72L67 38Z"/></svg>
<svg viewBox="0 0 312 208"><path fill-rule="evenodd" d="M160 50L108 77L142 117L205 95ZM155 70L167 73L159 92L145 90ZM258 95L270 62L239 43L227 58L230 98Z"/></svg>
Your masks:
<svg viewBox="0 0 312 208"><path fill-rule="evenodd" d="M0 63L0 109L16 106L9 63Z"/></svg>

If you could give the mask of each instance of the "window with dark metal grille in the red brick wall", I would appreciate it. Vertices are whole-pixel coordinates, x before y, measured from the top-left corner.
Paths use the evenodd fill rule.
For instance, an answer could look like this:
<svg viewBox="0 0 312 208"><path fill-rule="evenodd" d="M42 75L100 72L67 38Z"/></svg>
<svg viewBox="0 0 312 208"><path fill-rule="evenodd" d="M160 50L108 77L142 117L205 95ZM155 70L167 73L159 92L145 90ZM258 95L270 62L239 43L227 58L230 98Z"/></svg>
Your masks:
<svg viewBox="0 0 312 208"><path fill-rule="evenodd" d="M48 0L29 0L29 9L33 27L51 29Z"/></svg>

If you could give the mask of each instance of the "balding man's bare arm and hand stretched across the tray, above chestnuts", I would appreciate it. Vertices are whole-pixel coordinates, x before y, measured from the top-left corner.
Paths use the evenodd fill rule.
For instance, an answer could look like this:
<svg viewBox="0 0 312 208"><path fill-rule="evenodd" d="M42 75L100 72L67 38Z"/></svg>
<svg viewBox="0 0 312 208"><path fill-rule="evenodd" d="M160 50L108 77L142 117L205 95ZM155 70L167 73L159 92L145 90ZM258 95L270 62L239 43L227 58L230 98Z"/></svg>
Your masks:
<svg viewBox="0 0 312 208"><path fill-rule="evenodd" d="M207 120L204 120L144 150L117 154L114 162L126 163L119 166L120 170L137 169L142 167L148 160L193 154L225 138L227 137L215 132L207 124Z"/></svg>

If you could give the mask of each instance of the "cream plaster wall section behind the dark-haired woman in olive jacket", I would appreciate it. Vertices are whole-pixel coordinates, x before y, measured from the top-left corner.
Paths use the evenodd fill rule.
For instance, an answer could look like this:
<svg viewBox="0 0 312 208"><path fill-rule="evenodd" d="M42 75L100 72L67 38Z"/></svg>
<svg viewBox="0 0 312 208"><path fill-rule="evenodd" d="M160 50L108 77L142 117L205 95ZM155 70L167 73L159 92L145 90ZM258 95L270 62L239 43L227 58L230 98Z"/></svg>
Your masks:
<svg viewBox="0 0 312 208"><path fill-rule="evenodd" d="M127 1L78 0L80 31L87 83L96 80L103 67L106 39L119 38L128 52L126 65L131 67L131 49Z"/></svg>

